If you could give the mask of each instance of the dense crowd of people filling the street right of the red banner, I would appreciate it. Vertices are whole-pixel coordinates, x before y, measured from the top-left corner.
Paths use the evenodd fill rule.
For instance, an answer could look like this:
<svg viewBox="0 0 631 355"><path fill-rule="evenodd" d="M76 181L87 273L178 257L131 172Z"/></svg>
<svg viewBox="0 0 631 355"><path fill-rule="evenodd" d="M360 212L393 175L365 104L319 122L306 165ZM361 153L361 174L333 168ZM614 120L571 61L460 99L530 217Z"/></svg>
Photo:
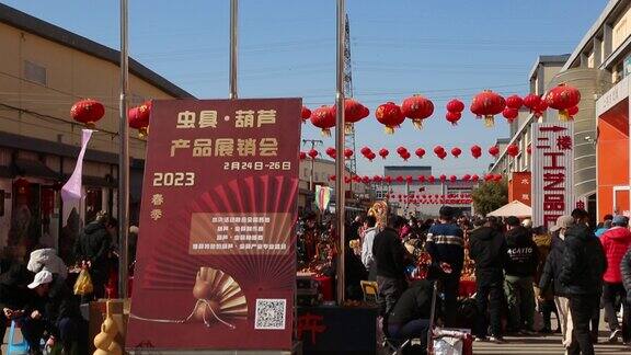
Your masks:
<svg viewBox="0 0 631 355"><path fill-rule="evenodd" d="M475 341L558 332L567 354L594 354L604 311L609 341L631 345L627 217L608 215L594 229L588 214L576 209L547 229L517 217L457 215L444 206L438 219L389 216L387 225L379 226L374 216L364 216L346 226L352 247L346 257L347 297L362 298L360 280L376 280L386 333L425 339L436 285L436 323L469 328ZM335 238L326 236L334 268ZM462 295L461 276L471 272L464 271L469 264L474 267L475 291Z"/></svg>

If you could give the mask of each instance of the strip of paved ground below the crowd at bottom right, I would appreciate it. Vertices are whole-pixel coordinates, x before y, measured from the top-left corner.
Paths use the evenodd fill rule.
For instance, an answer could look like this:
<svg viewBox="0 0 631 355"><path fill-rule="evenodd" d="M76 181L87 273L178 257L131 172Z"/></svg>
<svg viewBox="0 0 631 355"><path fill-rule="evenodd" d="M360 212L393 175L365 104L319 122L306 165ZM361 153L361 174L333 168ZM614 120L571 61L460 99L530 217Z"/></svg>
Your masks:
<svg viewBox="0 0 631 355"><path fill-rule="evenodd" d="M613 355L613 354L631 354L631 347L624 346L621 343L606 343L607 333L600 333L600 343L596 345L596 354L598 355ZM547 355L547 354L563 354L563 346L561 345L560 335L549 336L507 336L506 343L474 343L473 354L529 354L529 355Z"/></svg>

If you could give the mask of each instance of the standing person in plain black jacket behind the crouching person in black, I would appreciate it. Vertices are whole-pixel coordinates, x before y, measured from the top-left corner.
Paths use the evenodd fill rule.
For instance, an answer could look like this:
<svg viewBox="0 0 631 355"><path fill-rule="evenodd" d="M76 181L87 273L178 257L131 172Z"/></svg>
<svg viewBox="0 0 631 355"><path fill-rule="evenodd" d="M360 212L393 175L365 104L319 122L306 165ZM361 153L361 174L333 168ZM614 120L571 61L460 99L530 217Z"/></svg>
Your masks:
<svg viewBox="0 0 631 355"><path fill-rule="evenodd" d="M379 288L378 306L381 316L389 313L406 288L405 249L399 232L405 226L405 218L389 218L388 227L375 237L372 256L377 268Z"/></svg>

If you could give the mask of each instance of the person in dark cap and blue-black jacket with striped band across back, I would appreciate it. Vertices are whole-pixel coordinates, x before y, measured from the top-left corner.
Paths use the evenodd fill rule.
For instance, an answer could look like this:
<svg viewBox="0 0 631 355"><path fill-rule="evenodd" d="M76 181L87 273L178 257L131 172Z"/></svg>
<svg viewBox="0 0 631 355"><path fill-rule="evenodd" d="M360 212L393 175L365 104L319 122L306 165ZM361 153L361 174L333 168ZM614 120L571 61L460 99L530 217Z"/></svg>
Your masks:
<svg viewBox="0 0 631 355"><path fill-rule="evenodd" d="M464 238L462 229L454 222L456 210L440 207L439 222L427 232L425 249L432 256L432 267L445 294L445 323L455 327L460 273L464 263Z"/></svg>

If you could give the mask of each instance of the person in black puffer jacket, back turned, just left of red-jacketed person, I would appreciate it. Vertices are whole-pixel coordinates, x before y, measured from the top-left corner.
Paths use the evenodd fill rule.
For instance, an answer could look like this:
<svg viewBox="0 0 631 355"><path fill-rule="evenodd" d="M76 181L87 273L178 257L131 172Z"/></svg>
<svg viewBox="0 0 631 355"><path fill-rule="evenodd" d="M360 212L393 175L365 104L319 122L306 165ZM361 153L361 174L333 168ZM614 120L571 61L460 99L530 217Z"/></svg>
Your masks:
<svg viewBox="0 0 631 355"><path fill-rule="evenodd" d="M587 225L575 225L565 233L565 252L559 279L570 295L572 345L569 354L594 354L589 322L599 308L607 259L598 238Z"/></svg>

